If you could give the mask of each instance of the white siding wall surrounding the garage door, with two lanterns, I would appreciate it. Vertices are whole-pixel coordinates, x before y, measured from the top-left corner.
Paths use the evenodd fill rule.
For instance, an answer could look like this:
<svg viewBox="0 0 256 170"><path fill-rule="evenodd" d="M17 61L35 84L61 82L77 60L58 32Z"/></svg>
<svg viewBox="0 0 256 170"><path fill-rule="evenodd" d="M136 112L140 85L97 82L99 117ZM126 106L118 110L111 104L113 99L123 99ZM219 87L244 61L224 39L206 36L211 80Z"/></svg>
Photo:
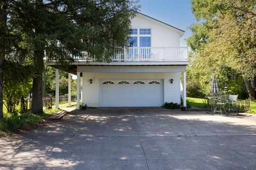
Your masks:
<svg viewBox="0 0 256 170"><path fill-rule="evenodd" d="M92 84L89 80L92 79ZM99 107L100 80L164 80L164 102L180 103L179 73L83 73L83 104L90 107ZM173 84L170 80L173 79Z"/></svg>

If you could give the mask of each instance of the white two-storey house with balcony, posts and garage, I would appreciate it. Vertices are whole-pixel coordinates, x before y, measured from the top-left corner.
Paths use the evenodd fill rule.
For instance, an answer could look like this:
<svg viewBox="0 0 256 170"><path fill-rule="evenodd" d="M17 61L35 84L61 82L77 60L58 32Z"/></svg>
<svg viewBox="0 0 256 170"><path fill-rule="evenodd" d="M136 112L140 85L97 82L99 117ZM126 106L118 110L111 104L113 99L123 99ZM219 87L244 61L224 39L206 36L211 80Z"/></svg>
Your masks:
<svg viewBox="0 0 256 170"><path fill-rule="evenodd" d="M181 97L186 106L188 48L180 47L183 34L184 31L172 25L138 12L132 19L130 47L113 56L113 62L73 63L77 75L77 108L79 100L89 107L150 107L165 102L180 103ZM56 79L58 108L58 69ZM69 73L69 96L70 91Z"/></svg>

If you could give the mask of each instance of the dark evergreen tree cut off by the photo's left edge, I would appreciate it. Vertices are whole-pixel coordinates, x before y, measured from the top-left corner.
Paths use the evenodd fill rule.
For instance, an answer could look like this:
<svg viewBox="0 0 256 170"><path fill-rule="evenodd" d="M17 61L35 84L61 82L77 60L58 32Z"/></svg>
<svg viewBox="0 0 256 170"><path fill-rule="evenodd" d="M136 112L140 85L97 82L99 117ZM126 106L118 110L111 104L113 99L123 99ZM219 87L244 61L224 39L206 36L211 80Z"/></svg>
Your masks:
<svg viewBox="0 0 256 170"><path fill-rule="evenodd" d="M2 0L0 1L0 119L3 119L3 89L4 84L4 69L6 60L12 58L12 62L20 62L26 60L28 54L25 49L19 46L22 40L22 33L13 27L10 19L13 11L18 10L16 1ZM19 20L19 18L17 18Z"/></svg>

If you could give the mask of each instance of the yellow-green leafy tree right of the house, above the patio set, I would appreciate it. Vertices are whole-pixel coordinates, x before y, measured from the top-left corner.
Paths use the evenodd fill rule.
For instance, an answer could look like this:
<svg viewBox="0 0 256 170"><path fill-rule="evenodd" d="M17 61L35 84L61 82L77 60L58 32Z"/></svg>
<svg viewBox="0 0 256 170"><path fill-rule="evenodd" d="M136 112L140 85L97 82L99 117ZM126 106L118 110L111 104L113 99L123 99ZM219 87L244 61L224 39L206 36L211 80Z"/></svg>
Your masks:
<svg viewBox="0 0 256 170"><path fill-rule="evenodd" d="M187 39L193 50L194 73L209 82L218 74L220 87L255 99L256 2L253 0L193 0L192 11L199 23L191 25Z"/></svg>

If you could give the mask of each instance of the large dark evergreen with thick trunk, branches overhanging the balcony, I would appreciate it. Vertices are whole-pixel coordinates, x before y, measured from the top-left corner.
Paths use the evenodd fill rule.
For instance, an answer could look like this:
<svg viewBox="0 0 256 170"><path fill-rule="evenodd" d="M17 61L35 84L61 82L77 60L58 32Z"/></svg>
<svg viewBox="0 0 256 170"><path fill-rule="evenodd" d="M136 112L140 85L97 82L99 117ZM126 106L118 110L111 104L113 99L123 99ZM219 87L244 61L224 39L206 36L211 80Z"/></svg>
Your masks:
<svg viewBox="0 0 256 170"><path fill-rule="evenodd" d="M1 35L4 40L12 31L21 35L18 47L26 53L15 55L35 65L33 113L43 112L44 57L65 66L83 57L110 62L126 44L130 19L138 8L132 0L2 1L0 6ZM7 47L0 52L0 66ZM0 83L1 79L0 75Z"/></svg>

